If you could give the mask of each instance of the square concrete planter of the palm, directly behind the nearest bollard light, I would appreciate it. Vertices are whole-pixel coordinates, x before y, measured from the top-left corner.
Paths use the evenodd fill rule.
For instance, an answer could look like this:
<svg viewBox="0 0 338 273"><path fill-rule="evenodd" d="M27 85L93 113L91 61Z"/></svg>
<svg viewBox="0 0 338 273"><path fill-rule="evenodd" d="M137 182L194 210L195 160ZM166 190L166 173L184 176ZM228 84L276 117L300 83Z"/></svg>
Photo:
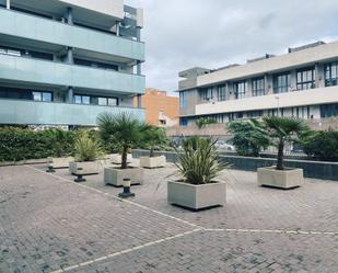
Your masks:
<svg viewBox="0 0 338 273"><path fill-rule="evenodd" d="M143 184L143 169L119 169L114 167L104 168L104 183L106 185L121 186L124 185L124 179L130 179L132 185Z"/></svg>

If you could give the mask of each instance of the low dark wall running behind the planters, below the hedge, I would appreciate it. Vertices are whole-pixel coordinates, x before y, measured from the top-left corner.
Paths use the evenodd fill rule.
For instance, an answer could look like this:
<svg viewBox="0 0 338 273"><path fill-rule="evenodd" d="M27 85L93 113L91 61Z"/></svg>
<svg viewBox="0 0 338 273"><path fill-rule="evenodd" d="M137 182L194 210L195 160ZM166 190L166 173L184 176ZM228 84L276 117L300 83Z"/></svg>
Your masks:
<svg viewBox="0 0 338 273"><path fill-rule="evenodd" d="M177 155L171 151L155 151L155 155L164 155L168 162L175 162ZM147 150L133 150L132 157L139 158L149 156ZM249 158L238 156L220 156L220 160L232 164L232 169L243 171L256 171L257 168L269 167L276 164L276 159L271 158ZM284 161L287 167L301 168L305 178L335 180L338 181L338 162L322 162L310 160L291 160Z"/></svg>

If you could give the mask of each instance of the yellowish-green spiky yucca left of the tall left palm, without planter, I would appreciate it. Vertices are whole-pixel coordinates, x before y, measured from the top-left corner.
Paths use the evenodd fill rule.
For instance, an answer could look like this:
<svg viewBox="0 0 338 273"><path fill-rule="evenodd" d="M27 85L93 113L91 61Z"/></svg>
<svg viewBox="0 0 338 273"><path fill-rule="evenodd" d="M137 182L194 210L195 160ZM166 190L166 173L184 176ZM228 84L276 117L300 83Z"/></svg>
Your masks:
<svg viewBox="0 0 338 273"><path fill-rule="evenodd" d="M96 139L91 139L89 133L83 130L74 141L74 153L78 162L95 161L103 155L101 144Z"/></svg>

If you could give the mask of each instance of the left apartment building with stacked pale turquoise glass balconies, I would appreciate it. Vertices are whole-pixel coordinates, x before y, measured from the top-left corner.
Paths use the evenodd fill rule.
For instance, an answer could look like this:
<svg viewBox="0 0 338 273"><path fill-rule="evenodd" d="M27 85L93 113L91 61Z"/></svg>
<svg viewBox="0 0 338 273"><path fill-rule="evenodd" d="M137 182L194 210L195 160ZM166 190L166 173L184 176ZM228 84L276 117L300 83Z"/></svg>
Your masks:
<svg viewBox="0 0 338 273"><path fill-rule="evenodd" d="M124 0L0 0L0 124L144 118L142 26L142 10Z"/></svg>

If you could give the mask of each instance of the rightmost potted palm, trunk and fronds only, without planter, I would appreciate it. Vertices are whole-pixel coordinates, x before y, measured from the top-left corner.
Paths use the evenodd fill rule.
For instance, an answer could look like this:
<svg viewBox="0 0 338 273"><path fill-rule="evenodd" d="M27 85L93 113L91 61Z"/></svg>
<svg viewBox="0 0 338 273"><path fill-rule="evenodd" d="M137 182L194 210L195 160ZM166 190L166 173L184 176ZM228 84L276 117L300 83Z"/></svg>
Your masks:
<svg viewBox="0 0 338 273"><path fill-rule="evenodd" d="M295 143L310 132L308 126L301 120L280 116L265 116L263 124L253 121L258 129L271 138L271 144L278 148L277 170L283 170L285 143Z"/></svg>

